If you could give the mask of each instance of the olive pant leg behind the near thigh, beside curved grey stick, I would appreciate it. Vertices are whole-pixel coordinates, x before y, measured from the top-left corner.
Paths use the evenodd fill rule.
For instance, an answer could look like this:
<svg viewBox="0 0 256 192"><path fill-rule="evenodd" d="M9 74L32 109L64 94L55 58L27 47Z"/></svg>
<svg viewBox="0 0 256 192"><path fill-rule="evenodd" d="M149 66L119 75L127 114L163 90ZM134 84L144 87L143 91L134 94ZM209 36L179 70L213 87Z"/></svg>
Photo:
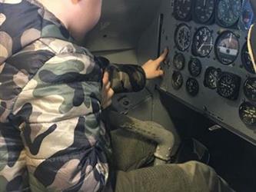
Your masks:
<svg viewBox="0 0 256 192"><path fill-rule="evenodd" d="M131 131L111 131L114 170L133 170L154 161L155 144Z"/></svg>

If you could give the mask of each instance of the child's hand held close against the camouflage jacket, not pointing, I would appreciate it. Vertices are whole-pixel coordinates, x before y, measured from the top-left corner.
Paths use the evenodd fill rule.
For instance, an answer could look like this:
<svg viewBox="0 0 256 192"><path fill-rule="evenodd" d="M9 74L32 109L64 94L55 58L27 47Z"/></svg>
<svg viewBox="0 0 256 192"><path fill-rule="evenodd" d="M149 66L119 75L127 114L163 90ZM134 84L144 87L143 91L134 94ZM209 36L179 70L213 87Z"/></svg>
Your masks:
<svg viewBox="0 0 256 192"><path fill-rule="evenodd" d="M114 95L113 89L110 87L110 81L108 80L108 72L104 72L103 78L102 78L102 90L101 90L101 107L103 109L108 108L108 106L112 103L112 97Z"/></svg>

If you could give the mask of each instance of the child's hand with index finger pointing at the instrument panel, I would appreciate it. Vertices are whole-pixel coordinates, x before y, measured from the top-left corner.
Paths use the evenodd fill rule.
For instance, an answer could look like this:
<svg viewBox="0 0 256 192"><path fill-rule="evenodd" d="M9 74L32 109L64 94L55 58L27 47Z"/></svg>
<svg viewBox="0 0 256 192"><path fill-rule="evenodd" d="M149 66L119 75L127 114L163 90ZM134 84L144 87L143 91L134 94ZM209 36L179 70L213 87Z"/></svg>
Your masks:
<svg viewBox="0 0 256 192"><path fill-rule="evenodd" d="M148 62L142 65L147 79L158 78L164 74L164 71L160 69L160 65L162 61L165 61L167 55L168 48L165 48L165 51L159 58L155 60L148 60Z"/></svg>

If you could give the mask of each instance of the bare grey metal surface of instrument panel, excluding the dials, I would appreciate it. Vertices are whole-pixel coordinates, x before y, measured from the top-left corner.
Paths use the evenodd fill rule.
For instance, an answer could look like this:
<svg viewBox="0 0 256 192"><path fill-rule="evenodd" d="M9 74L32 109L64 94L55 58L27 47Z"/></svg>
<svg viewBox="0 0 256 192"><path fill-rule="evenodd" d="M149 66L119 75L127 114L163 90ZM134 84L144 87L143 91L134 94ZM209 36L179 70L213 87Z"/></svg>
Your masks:
<svg viewBox="0 0 256 192"><path fill-rule="evenodd" d="M180 22L176 20L172 16L173 12L173 2L165 1L161 6L161 10L159 12L164 14L163 21L163 29L161 31L161 50L165 47L169 47L171 50L171 55L169 55L169 60L172 61L175 53L181 52L178 48L175 47L175 28L181 23L185 23L189 27L191 27L192 35L194 35L195 31L200 28L207 26L213 31L214 42L217 40L218 35L223 31L232 31L235 35L239 37L239 55L238 58L231 65L222 65L216 55L214 50L211 51L211 54L207 58L199 58L202 64L201 74L196 78L199 82L199 93L196 97L191 97L185 88L185 84L179 89L175 90L171 85L171 76L173 72L176 70L173 65L163 65L165 70L165 77L161 82L161 89L167 91L169 94L175 96L179 100L183 101L184 104L189 107L196 109L196 111L200 111L202 114L205 114L208 118L213 119L221 126L228 128L228 130L238 134L244 139L250 141L253 144L256 144L256 131L255 129L248 128L239 118L239 106L244 102L248 101L243 92L243 84L244 81L248 77L255 77L254 74L250 74L244 68L241 67L241 48L243 47L248 31L241 31L236 28L221 28L217 24L213 25L198 25L197 23L191 22ZM186 65L183 70L181 70L181 74L184 78L184 81L187 81L188 78L191 78L191 74L188 71L188 61L191 59L191 46L188 48L188 51L182 52L185 55ZM214 67L221 68L221 71L231 72L233 74L237 74L241 77L241 88L239 91L238 99L235 101L228 100L226 98L221 98L218 95L216 90L211 90L209 88L204 87L204 72L206 68Z"/></svg>

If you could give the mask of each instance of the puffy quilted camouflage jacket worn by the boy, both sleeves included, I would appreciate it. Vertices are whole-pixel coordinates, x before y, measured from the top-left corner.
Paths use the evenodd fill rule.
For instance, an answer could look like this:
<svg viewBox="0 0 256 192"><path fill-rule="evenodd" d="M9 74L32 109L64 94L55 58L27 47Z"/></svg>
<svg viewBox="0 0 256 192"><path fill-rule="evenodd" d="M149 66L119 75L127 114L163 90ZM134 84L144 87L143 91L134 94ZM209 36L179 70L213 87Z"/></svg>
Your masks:
<svg viewBox="0 0 256 192"><path fill-rule="evenodd" d="M111 65L118 91L144 71ZM0 191L100 191L108 181L100 62L35 0L0 0Z"/></svg>

